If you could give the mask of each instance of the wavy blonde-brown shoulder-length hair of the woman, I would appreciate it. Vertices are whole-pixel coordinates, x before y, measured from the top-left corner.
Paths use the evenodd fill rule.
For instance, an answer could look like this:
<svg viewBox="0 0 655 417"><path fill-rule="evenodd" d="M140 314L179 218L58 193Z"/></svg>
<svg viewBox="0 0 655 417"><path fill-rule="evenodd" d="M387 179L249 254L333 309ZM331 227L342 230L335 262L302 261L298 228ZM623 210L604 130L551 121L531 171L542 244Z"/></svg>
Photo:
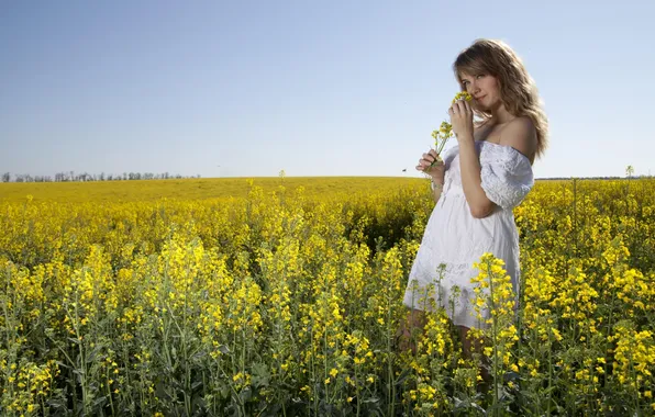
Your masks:
<svg viewBox="0 0 655 417"><path fill-rule="evenodd" d="M548 119L543 110L543 101L536 84L521 58L504 42L478 38L457 55L453 64L455 78L465 91L460 74L487 74L498 79L500 97L504 108L514 116L529 116L536 128L536 158L541 158L548 146ZM484 124L491 117L490 112L474 109Z"/></svg>

